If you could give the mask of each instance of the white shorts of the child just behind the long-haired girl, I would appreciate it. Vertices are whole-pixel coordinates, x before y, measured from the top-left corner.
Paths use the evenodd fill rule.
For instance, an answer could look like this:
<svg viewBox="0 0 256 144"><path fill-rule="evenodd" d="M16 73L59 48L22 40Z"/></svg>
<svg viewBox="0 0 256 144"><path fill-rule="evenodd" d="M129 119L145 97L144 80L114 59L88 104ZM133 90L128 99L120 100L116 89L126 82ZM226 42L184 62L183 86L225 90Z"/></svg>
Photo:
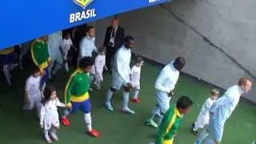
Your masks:
<svg viewBox="0 0 256 144"><path fill-rule="evenodd" d="M27 105L26 103L23 106L23 110L32 110L34 106L37 107L38 111L41 110L42 107L42 97L41 94L35 94L30 96L30 105Z"/></svg>

